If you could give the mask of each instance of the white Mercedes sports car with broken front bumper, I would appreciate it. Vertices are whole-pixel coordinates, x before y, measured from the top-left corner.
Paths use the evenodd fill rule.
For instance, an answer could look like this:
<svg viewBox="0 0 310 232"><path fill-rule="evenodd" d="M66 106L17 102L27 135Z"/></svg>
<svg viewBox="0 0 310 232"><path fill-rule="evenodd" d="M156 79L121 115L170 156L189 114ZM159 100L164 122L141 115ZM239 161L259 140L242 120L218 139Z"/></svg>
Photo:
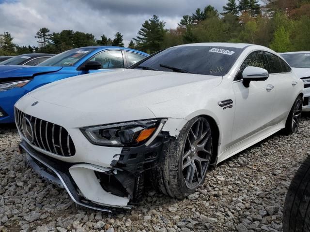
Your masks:
<svg viewBox="0 0 310 232"><path fill-rule="evenodd" d="M303 82L274 51L171 47L129 69L67 78L15 105L32 167L78 204L130 208L145 182L184 198L210 165L298 129Z"/></svg>

